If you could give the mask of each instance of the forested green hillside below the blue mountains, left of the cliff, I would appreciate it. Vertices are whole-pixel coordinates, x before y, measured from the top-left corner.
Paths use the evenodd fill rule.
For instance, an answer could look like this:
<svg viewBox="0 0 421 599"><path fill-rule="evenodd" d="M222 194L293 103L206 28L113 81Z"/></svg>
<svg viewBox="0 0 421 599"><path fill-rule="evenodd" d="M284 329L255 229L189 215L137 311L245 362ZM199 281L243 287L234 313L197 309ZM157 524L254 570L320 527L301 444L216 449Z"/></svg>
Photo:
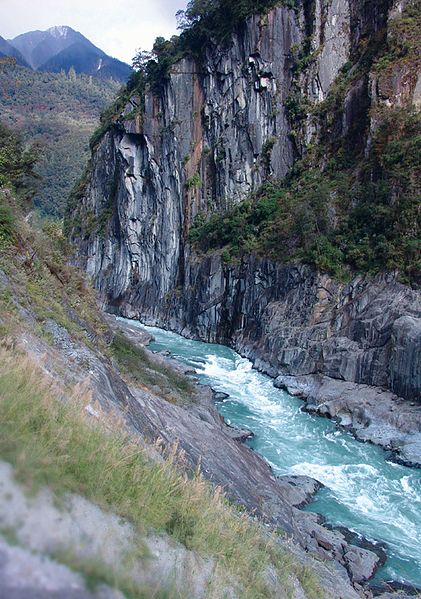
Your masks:
<svg viewBox="0 0 421 599"><path fill-rule="evenodd" d="M60 218L89 158L89 138L120 85L111 80L0 65L2 121L39 144L35 205Z"/></svg>

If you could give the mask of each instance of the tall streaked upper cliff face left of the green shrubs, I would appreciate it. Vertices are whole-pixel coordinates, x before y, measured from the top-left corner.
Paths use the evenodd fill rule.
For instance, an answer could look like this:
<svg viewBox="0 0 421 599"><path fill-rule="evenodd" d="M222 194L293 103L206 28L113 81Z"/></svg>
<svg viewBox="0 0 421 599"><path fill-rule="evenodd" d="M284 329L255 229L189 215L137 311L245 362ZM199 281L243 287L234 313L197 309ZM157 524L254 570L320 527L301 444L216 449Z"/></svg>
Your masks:
<svg viewBox="0 0 421 599"><path fill-rule="evenodd" d="M183 284L197 213L224 210L269 173L287 173L288 56L301 35L292 10L251 17L229 48L208 48L201 71L177 63L161 95L146 95L142 124L125 120L105 135L79 214L98 222L111 208L111 225L78 240L104 294L136 289L139 305L155 305Z"/></svg>

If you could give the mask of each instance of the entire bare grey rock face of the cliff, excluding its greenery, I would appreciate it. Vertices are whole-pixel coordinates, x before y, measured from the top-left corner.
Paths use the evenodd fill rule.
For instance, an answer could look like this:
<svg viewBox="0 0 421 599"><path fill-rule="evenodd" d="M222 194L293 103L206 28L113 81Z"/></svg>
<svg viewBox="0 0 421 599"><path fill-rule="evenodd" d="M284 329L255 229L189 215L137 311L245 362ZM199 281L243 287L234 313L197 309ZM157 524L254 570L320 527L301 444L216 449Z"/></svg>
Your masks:
<svg viewBox="0 0 421 599"><path fill-rule="evenodd" d="M94 153L72 237L111 311L230 344L272 376L324 375L419 399L420 298L395 275L340 285L253 256L229 265L187 241L199 212L223 211L291 167L294 48L311 36L316 59L301 83L320 102L391 8L313 4L310 30L308 15L287 8L251 17L227 47L210 44L201 66L177 63L161 93L146 94L142 119L127 106ZM372 88L366 76L355 81L332 135L352 129ZM309 140L311 119L304 128Z"/></svg>

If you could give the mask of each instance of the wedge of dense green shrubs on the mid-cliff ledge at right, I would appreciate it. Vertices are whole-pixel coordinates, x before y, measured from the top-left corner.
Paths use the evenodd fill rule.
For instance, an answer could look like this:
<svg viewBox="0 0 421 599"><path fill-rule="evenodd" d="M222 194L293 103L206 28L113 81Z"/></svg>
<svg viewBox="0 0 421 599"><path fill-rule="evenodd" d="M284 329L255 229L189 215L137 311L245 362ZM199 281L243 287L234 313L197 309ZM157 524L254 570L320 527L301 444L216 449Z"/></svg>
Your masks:
<svg viewBox="0 0 421 599"><path fill-rule="evenodd" d="M231 211L199 215L190 231L198 249L223 249L232 260L255 251L301 260L347 278L398 269L406 282L421 272L421 117L407 108L387 115L360 170L338 154L321 172L309 159L283 182L267 182ZM346 160L345 160L346 163Z"/></svg>

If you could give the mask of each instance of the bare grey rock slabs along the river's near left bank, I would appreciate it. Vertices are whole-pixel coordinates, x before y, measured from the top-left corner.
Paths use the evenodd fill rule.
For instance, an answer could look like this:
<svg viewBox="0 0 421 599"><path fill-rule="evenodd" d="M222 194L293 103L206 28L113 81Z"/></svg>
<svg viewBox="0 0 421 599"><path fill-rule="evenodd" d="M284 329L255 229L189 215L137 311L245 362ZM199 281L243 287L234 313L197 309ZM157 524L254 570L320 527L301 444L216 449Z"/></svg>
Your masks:
<svg viewBox="0 0 421 599"><path fill-rule="evenodd" d="M136 342L139 327L113 317L108 317L108 322ZM137 342L144 343L145 340L149 341L141 333ZM163 358L176 368L190 371L168 356L154 354L154 359ZM364 587L361 585L384 562L385 554L380 545L366 541L363 547L361 539L359 546L354 545L350 539L355 542L355 535L345 529L327 528L322 517L299 509L312 500L321 484L307 476L275 477L262 458L238 442L247 438L249 432L236 432L222 420L214 405L215 400L223 399L222 394L202 385L199 403L181 410L171 404L158 406L154 403L152 407L147 405L150 399L142 398L139 393L136 397L144 412L151 410L149 425L154 431L152 435L159 431L160 438L167 445L178 440L192 466L200 460L205 476L222 485L228 496L269 524L284 528L310 554L334 564L337 574L343 577L347 573L358 590L362 591ZM286 528L285 519L288 520ZM367 589L365 592L370 593Z"/></svg>

